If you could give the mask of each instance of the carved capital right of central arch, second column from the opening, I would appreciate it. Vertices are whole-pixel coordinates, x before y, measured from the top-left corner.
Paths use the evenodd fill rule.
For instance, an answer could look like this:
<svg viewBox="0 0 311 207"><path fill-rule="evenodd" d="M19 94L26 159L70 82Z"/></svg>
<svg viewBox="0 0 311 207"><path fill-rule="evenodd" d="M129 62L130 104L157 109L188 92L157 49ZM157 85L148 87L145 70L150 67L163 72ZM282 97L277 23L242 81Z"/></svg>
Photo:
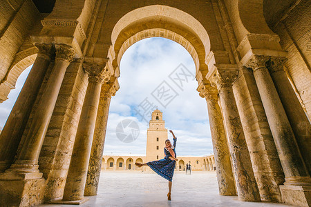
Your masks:
<svg viewBox="0 0 311 207"><path fill-rule="evenodd" d="M232 87L232 84L234 83L234 81L236 81L237 77L238 77L238 70L236 68L234 69L217 68L216 73L212 75L211 79L219 90L220 88Z"/></svg>

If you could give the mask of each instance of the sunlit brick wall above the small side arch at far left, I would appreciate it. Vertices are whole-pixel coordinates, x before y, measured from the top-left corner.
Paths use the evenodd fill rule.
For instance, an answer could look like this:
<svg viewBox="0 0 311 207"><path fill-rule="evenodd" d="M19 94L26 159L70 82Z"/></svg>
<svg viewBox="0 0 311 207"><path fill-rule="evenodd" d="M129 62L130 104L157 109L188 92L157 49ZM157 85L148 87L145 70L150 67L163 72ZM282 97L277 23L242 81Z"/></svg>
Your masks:
<svg viewBox="0 0 311 207"><path fill-rule="evenodd" d="M15 85L3 84L8 69L40 14L31 0L2 1L0 4L0 103ZM24 68L25 69L25 68Z"/></svg>

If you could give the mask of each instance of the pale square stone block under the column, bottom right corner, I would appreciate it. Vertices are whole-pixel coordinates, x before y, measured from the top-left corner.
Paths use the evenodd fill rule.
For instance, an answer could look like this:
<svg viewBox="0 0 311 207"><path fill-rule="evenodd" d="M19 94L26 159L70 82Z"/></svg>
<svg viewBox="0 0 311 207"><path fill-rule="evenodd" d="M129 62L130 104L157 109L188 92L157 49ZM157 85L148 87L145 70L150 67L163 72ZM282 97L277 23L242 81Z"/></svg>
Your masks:
<svg viewBox="0 0 311 207"><path fill-rule="evenodd" d="M285 204L311 206L311 186L281 185L280 190Z"/></svg>

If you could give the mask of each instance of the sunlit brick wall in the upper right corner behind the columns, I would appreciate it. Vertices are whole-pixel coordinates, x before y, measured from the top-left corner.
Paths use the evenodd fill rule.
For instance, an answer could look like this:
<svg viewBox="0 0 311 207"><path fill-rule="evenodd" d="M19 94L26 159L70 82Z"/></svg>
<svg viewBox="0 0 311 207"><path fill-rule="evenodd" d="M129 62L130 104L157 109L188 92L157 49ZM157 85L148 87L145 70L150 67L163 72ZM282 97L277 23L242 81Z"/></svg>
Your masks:
<svg viewBox="0 0 311 207"><path fill-rule="evenodd" d="M311 117L311 30L310 7L308 0L296 1L297 5L288 7L277 18L277 24L270 28L279 34L280 43L288 51L285 63L288 76L294 83L297 96Z"/></svg>

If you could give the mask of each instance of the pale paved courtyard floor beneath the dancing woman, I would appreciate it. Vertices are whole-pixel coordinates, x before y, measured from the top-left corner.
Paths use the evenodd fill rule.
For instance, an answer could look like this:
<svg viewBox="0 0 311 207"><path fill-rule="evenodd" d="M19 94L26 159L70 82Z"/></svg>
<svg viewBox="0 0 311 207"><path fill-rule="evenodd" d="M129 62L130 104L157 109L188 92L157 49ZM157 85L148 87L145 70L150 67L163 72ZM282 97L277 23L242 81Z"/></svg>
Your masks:
<svg viewBox="0 0 311 207"><path fill-rule="evenodd" d="M236 196L218 195L216 172L175 172L171 201L167 200L168 181L147 172L102 171L98 195L80 206L287 206L238 201ZM46 207L69 205L41 205Z"/></svg>

